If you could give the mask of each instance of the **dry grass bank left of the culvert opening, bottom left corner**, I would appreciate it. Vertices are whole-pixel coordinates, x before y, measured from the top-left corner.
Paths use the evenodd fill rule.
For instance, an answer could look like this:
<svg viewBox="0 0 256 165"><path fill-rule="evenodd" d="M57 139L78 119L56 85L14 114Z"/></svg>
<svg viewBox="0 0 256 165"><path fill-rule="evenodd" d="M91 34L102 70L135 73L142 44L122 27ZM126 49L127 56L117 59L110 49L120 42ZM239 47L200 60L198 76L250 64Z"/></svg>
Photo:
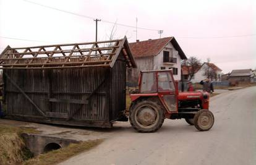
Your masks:
<svg viewBox="0 0 256 165"><path fill-rule="evenodd" d="M25 148L21 133L38 133L33 128L0 126L0 164L20 164L32 154Z"/></svg>

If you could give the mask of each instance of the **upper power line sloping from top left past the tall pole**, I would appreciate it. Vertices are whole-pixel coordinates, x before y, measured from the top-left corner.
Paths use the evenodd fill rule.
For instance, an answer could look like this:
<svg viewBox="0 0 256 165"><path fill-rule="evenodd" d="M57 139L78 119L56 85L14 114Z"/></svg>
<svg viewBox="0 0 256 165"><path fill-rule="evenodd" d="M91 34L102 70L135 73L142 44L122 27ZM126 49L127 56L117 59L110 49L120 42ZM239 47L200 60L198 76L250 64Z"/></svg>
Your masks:
<svg viewBox="0 0 256 165"><path fill-rule="evenodd" d="M66 10L62 10L62 9L58 9L56 7L51 7L51 6L46 6L44 4L40 4L40 3L36 3L36 2L32 2L32 1L27 1L27 0L23 0L25 2L29 2L29 3L32 3L32 4L36 4L38 6L42 6L42 7L46 7L46 8L49 8L49 9L53 9L55 11L60 11L60 12L66 12L67 14L72 14L72 15L77 15L79 17L85 17L87 19L95 19L94 17L90 17L88 15L83 15L83 14L78 14L78 13L75 13L75 12L70 12L70 11L66 11ZM126 24L123 24L123 23L116 23L116 22L111 22L109 20L101 20L102 22L106 22L106 23L111 23L111 24L116 24L116 25L119 25L119 26L123 26L123 27L129 27L129 28L136 28L135 26L132 26L132 25L126 25ZM152 29L152 28L143 28L143 27L137 27L139 29L142 29L142 30L151 30L151 31L156 31L158 32L158 30L156 29Z"/></svg>

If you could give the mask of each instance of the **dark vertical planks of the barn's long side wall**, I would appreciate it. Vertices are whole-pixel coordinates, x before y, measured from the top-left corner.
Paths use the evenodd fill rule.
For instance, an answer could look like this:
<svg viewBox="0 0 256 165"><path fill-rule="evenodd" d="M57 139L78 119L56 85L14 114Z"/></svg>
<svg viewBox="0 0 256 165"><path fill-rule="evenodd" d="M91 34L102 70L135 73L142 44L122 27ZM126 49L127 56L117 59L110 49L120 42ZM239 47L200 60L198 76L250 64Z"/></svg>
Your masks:
<svg viewBox="0 0 256 165"><path fill-rule="evenodd" d="M74 114L79 109L74 119L99 122L109 121L108 77L92 95L89 104L82 106L82 104L55 103L49 102L49 98L86 99L105 80L107 71L108 69L102 67L4 70L43 112ZM7 78L5 78L5 93L7 114L40 116L35 107Z"/></svg>

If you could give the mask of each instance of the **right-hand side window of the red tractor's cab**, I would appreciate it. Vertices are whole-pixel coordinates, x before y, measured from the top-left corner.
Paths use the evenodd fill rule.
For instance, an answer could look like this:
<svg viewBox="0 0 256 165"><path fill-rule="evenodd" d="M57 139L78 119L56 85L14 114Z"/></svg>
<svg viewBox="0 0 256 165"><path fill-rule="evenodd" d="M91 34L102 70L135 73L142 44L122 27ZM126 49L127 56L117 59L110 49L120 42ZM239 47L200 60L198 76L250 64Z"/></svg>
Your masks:
<svg viewBox="0 0 256 165"><path fill-rule="evenodd" d="M158 91L174 91L174 82L169 72L158 72Z"/></svg>

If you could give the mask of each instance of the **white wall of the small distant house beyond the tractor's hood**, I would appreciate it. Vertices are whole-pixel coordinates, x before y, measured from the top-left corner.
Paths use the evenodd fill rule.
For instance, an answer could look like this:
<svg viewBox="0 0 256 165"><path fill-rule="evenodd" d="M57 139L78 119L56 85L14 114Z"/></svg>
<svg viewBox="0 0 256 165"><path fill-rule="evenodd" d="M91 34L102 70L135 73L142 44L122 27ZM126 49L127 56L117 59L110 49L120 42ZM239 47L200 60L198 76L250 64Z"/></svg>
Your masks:
<svg viewBox="0 0 256 165"><path fill-rule="evenodd" d="M192 83L198 83L200 82L201 80L204 80L205 78L207 78L207 76L203 75L205 73L205 69L207 69L207 64L203 64L203 66L195 73L194 77L191 79L191 82ZM209 67L210 70L212 70L210 67ZM221 71L216 71L216 74L217 74L217 82L220 82L221 81ZM218 77L218 75L220 75L220 78Z"/></svg>

